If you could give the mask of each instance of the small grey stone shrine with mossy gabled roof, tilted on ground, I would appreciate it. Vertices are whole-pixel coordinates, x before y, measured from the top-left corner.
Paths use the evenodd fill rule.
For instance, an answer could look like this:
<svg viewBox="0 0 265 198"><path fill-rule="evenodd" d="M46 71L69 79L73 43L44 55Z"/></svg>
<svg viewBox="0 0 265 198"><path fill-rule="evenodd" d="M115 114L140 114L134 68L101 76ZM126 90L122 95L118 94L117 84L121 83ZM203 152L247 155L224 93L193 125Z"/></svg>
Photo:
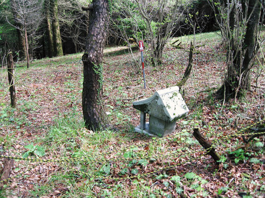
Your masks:
<svg viewBox="0 0 265 198"><path fill-rule="evenodd" d="M140 111L140 125L135 127L135 131L159 137L172 133L176 121L189 112L178 86L156 91L150 98L133 101L133 108ZM150 115L147 123L146 113Z"/></svg>

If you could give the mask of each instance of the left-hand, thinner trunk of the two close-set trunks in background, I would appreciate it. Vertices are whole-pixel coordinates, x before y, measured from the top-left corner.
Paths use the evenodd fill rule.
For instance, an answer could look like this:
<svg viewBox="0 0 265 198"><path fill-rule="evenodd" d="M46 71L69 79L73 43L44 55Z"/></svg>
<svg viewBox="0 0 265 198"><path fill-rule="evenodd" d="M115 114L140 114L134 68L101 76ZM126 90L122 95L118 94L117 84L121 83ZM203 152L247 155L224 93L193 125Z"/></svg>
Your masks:
<svg viewBox="0 0 265 198"><path fill-rule="evenodd" d="M48 51L49 51L49 57L54 56L54 44L53 44L53 31L52 31L52 24L51 24L51 15L50 15L50 4L49 0L45 0L44 2L45 6L45 17L46 17L46 23L47 23L47 37L48 37Z"/></svg>

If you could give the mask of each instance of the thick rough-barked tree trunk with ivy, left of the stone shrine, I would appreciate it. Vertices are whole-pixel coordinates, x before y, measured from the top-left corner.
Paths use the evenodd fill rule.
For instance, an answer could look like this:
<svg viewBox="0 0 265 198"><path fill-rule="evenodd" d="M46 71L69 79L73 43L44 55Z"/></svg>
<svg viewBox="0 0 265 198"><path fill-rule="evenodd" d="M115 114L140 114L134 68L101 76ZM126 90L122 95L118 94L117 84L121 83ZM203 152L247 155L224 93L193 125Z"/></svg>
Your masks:
<svg viewBox="0 0 265 198"><path fill-rule="evenodd" d="M89 30L85 52L82 108L85 125L98 130L107 122L103 107L102 57L109 22L108 0L93 0L86 10L90 10Z"/></svg>

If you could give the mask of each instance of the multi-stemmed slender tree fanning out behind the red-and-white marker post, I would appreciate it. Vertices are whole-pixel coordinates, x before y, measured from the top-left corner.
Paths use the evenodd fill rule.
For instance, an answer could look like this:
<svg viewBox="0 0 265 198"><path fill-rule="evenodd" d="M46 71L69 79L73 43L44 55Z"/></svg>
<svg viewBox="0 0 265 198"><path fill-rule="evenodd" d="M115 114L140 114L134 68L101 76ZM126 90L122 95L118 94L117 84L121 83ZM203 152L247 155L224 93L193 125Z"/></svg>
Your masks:
<svg viewBox="0 0 265 198"><path fill-rule="evenodd" d="M163 49L183 14L180 2L179 0L135 0L135 2L150 34L153 64L160 64ZM152 27L154 23L155 28Z"/></svg>

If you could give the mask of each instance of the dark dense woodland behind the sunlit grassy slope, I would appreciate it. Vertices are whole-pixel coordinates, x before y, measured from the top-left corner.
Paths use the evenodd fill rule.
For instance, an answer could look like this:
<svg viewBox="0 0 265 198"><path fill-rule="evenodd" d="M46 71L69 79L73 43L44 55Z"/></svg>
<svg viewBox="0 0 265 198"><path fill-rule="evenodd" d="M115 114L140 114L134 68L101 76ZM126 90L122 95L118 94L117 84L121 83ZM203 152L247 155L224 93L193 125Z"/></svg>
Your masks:
<svg viewBox="0 0 265 198"><path fill-rule="evenodd" d="M130 2L131 7L123 6L128 2ZM3 60L7 51L12 51L13 54L16 54L15 59L20 61L26 57L25 27L27 28L30 59L40 59L84 50L88 29L88 12L82 11L82 6L87 6L88 4L87 0L2 1L0 5L1 60ZM180 1L179 6L178 12L182 16L178 19L177 24L174 25L172 36L209 32L218 29L215 24L214 13L207 0ZM170 11L168 9L165 9L164 16ZM132 10L133 13L131 13ZM132 20L131 14L137 19L134 22L138 23L140 31L143 32L143 35L138 35L139 38L137 39L140 39L140 37L144 40L148 39L144 35L147 27L144 20L139 16L136 2L133 4L133 1L113 0L106 45L126 45L125 39L121 36L123 28L126 28L128 38L136 40L132 30L133 25L130 24ZM22 19L26 20L25 23ZM153 29L155 29L157 20L155 18L152 19ZM57 22L59 22L60 31L56 31L56 28L58 28ZM57 39L62 40L63 52L60 50L59 52L56 51L56 46L53 46ZM60 42L59 45L61 45Z"/></svg>

